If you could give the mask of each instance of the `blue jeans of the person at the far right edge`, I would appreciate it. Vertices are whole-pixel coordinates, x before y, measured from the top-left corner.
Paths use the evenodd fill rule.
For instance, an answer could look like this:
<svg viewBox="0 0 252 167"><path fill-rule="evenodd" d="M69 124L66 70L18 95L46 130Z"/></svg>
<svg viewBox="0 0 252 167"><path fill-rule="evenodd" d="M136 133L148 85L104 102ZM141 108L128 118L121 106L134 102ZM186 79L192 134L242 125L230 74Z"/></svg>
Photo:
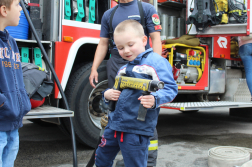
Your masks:
<svg viewBox="0 0 252 167"><path fill-rule="evenodd" d="M252 43L242 45L239 48L239 55L244 65L249 91L252 93Z"/></svg>

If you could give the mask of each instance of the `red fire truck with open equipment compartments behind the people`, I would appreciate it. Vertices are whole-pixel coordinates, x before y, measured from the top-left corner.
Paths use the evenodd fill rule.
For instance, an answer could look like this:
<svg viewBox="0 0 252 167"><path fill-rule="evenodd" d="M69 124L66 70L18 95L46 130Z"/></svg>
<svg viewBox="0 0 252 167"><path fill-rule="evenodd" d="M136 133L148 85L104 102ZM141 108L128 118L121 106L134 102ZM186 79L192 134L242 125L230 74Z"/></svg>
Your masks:
<svg viewBox="0 0 252 167"><path fill-rule="evenodd" d="M153 4L159 13L163 27L162 40L180 37L188 32L200 39L198 46L164 43L167 59L176 67L174 78L179 94L172 103L164 104L162 108L195 112L206 107L251 106L246 103L250 102L251 95L237 55L237 43L231 40L236 36L250 34L249 0L242 1L246 7L242 11L246 10L246 22L211 25L204 31L197 30L195 24L185 24L188 17L195 14L197 3L194 1L197 0L144 1ZM208 12L210 0L202 1L205 4L204 11ZM95 89L89 84L89 75L99 42L101 17L114 5L116 2L113 0L39 1L42 44L54 65L69 106L74 111L76 138L91 147L96 145L101 129L100 118L104 115L101 92L107 88L106 60L109 54L98 68L99 83ZM234 20L231 16L229 19ZM35 40L16 41L20 48L37 47ZM39 120L33 120L37 123L41 123L41 120L56 123L63 132L70 134L69 119L64 117L72 116L72 113L60 108L63 108L63 103L55 86L44 105L30 111L25 118L37 118Z"/></svg>

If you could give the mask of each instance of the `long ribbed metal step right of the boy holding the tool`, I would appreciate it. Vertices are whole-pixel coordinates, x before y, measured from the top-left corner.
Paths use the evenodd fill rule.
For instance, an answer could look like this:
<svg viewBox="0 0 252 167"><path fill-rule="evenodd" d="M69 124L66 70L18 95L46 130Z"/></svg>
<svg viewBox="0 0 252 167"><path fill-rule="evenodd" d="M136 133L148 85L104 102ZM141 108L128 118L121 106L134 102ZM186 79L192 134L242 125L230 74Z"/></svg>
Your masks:
<svg viewBox="0 0 252 167"><path fill-rule="evenodd" d="M160 105L161 108L175 109L180 111L192 111L206 108L242 108L252 107L252 103L249 102L233 102L233 101L214 101L214 102L185 102L185 103L166 103Z"/></svg>

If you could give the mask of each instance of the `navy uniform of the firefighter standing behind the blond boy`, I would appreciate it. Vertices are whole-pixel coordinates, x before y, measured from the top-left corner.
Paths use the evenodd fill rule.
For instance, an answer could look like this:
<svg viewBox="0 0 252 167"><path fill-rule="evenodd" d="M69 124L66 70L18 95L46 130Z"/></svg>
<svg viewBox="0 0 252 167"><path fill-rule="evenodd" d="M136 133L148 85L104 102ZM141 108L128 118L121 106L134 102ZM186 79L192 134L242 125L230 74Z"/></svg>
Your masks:
<svg viewBox="0 0 252 167"><path fill-rule="evenodd" d="M140 22L145 31L145 35L149 38L149 33L161 31L160 21L157 15L156 9L153 5L145 2L141 2L141 6L138 4L137 0L129 3L119 3L116 7L107 10L101 21L101 33L100 37L110 38L110 54L111 58L107 63L107 76L108 76L108 86L112 88L115 82L115 76L121 66L127 63L126 60L122 59L119 55L117 48L112 41L113 30L122 21L127 19L134 19ZM141 20L141 16L142 19ZM146 45L146 49L150 48L149 40ZM158 135L155 129L154 136L150 138L149 147L149 158L148 166L155 166L157 159L158 150Z"/></svg>

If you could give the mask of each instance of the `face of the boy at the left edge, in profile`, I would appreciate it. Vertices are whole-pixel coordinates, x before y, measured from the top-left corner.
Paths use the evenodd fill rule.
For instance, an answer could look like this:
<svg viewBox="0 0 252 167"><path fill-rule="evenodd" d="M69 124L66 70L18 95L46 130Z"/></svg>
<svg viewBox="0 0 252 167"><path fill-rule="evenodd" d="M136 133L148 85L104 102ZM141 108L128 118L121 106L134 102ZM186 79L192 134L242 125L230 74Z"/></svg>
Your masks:
<svg viewBox="0 0 252 167"><path fill-rule="evenodd" d="M17 26L21 15L20 0L13 0L10 9L7 9L8 26Z"/></svg>

